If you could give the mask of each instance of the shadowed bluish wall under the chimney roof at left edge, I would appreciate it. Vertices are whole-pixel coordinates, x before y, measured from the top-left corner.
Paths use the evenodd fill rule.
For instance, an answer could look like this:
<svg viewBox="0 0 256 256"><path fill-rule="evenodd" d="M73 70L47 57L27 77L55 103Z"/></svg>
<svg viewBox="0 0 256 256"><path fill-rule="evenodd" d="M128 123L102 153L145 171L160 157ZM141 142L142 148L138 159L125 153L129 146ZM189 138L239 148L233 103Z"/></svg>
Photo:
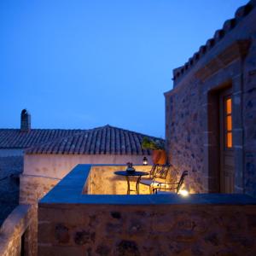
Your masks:
<svg viewBox="0 0 256 256"><path fill-rule="evenodd" d="M19 205L19 175L22 171L22 156L0 157L0 225Z"/></svg>

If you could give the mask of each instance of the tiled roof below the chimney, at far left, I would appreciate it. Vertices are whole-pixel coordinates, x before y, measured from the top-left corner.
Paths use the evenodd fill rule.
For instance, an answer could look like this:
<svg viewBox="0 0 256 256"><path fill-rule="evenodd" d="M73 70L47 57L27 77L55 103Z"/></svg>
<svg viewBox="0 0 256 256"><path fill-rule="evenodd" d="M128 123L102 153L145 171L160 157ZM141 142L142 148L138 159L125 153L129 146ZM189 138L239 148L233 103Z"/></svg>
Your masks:
<svg viewBox="0 0 256 256"><path fill-rule="evenodd" d="M30 148L82 131L85 130L32 129L26 132L20 129L0 129L0 148Z"/></svg>

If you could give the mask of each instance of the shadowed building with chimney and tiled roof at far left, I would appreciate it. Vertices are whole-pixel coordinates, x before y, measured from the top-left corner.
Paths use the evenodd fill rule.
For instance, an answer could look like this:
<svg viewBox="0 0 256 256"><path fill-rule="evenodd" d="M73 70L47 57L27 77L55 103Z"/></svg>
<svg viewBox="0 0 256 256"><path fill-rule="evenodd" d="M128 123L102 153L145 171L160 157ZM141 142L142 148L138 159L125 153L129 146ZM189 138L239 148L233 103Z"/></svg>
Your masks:
<svg viewBox="0 0 256 256"><path fill-rule="evenodd" d="M20 129L0 129L0 224L19 203L19 176L23 172L25 149L79 131L32 129L31 115L26 109L20 114Z"/></svg>

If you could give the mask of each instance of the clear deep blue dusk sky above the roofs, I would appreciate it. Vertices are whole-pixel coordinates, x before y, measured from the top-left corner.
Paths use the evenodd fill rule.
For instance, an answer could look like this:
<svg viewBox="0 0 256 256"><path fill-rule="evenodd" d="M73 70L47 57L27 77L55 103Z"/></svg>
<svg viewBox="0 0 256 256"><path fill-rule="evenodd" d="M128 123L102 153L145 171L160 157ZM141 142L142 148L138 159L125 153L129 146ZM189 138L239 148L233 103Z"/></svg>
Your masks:
<svg viewBox="0 0 256 256"><path fill-rule="evenodd" d="M102 125L165 137L182 66L245 0L0 1L0 128Z"/></svg>

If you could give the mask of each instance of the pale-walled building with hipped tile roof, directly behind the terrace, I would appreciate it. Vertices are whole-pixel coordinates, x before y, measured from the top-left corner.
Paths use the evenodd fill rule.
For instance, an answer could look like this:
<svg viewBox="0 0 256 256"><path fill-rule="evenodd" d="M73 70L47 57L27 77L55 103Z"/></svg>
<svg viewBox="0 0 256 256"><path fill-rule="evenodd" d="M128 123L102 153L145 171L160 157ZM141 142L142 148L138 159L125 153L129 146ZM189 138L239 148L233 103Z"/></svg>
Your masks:
<svg viewBox="0 0 256 256"><path fill-rule="evenodd" d="M145 136L105 125L26 149L24 172L20 175L20 203L33 202L29 191L33 189L41 198L82 163L124 165L130 161L142 165L146 155L150 164L150 151L141 147Z"/></svg>

